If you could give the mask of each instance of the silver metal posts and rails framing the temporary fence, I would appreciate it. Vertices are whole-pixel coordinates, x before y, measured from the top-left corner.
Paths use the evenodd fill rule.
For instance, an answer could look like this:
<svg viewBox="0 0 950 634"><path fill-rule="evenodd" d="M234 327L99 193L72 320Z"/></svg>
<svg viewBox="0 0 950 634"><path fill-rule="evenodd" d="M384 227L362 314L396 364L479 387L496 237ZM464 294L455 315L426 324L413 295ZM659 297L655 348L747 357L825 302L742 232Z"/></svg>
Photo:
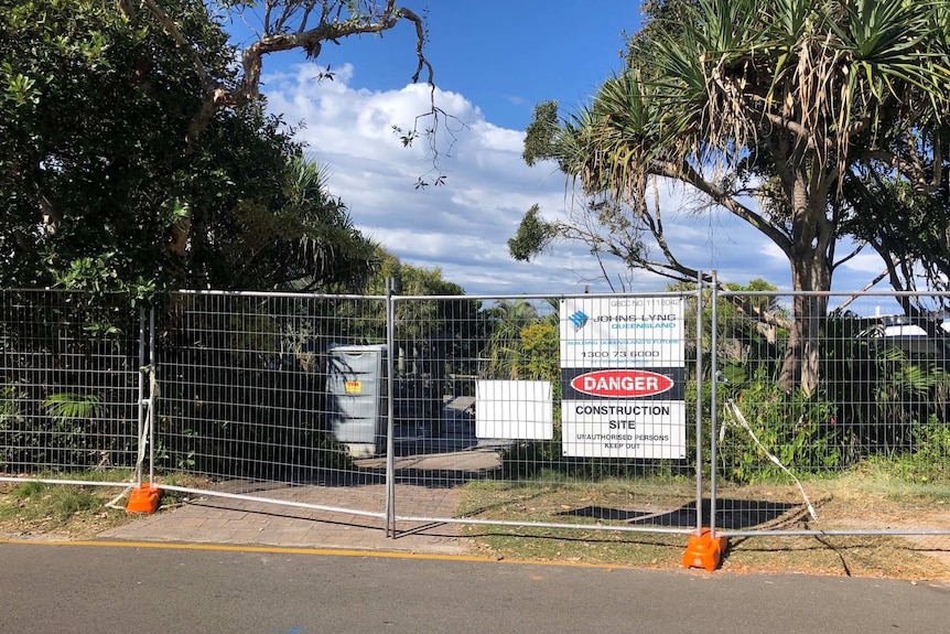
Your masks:
<svg viewBox="0 0 950 634"><path fill-rule="evenodd" d="M702 276L700 276L702 279ZM0 298L6 301L6 298L11 297L11 293L39 293L39 292L54 292L54 291L3 291L0 293ZM425 514L425 513L400 513L401 508L401 499L402 492L406 488L406 482L400 482L399 476L399 466L397 464L397 453L398 453L398 439L397 439L397 411L396 411L396 395L398 391L397 375L397 359L395 351L399 345L399 341L401 337L404 339L404 334L400 332L400 329L406 327L406 310L402 307L413 307L413 305L436 305L450 302L484 302L484 301L535 301L541 302L547 299L551 299L550 295L458 295L458 297L444 297L444 295L406 295L399 297L396 295L392 289L388 289L386 295L331 295L331 294L300 294L300 293L274 293L274 292L233 292L233 291L182 291L179 293L174 293L174 298L179 298L182 301L204 301L204 300L222 300L222 301L259 301L261 303L267 302L311 302L311 308L314 305L334 305L333 302L348 302L349 307L359 307L361 303L370 303L378 307L381 307L381 310L367 311L366 314L360 315L358 309L349 309L349 314L356 315L354 319L364 319L364 320L375 320L377 330L379 329L379 320L384 320L385 323L381 324L382 329L379 331L382 333L380 336L380 343L385 343L389 354L387 355L387 374L386 374L386 438L385 438L385 460L382 461L382 472L381 472L381 482L384 487L384 493L381 497L380 507L377 508L363 508L358 505L346 505L346 504L328 504L326 502L317 501L307 501L307 499L288 499L282 498L279 495L270 496L266 494L260 494L259 487L248 487L247 491L225 491L220 488L196 488L186 485L175 485L175 484L159 484L162 488L166 488L169 491L176 491L187 494L194 495L207 495L207 496L217 496L222 498L233 498L233 499L242 499L250 502L260 502L268 504L277 504L284 505L290 507L299 507L306 508L317 512L331 513L331 514L347 514L355 516L364 516L374 519L380 520L380 528L386 531L387 536L396 537L399 535L399 528L404 525L414 525L418 523L444 523L444 524L467 524L467 525L494 525L494 526L531 526L538 528L551 528L551 529L583 529L583 530L614 530L614 531L625 531L625 533L658 533L658 534L680 534L680 535L693 535L700 534L704 527L709 527L713 536L721 535L723 537L741 537L741 536L764 536L764 535L776 535L776 536L811 536L811 535L950 535L950 527L946 528L915 528L915 527L903 527L903 528L840 528L840 529L822 529L822 528L801 528L801 527L792 527L792 528L723 528L722 526L717 526L717 515L721 511L719 505L722 502L721 490L720 490L720 479L722 475L720 474L720 468L717 459L720 456L720 431L723 430L720 423L720 417L724 411L724 404L721 398L721 389L717 380L705 382L704 376L713 376L716 377L721 367L722 358L720 351L720 343L717 341L717 333L720 330L720 325L724 323L724 320L727 321L728 318L724 318L719 312L720 302L723 300L728 300L730 298L756 298L756 297L781 297L781 298L790 298L795 295L823 295L823 297L843 297L843 298L898 298L898 297L915 297L926 294L930 297L935 293L895 293L895 292L833 292L833 293L794 293L788 291L779 291L779 292L755 292L755 291L725 291L716 283L711 286L704 286L702 282L697 284L695 291L689 292L680 292L680 293L625 293L625 294L603 294L603 295L585 295L591 298L597 297L611 297L611 298L647 298L647 297L658 297L663 294L670 294L676 297L684 297L689 298L690 301L694 302L695 310L695 341L693 345L695 346L695 356L692 359L692 368L691 372L695 375L695 398L692 402L692 408L694 409L694 420L691 423L693 426L694 431L694 443L693 448L693 463L690 465L693 471L694 484L695 484L695 497L692 501L695 508L695 522L694 526L683 525L682 523L678 525L631 525L624 523L571 523L571 522L544 522L544 520L530 520L530 519L490 519L490 518L481 518L481 517L460 517L455 515L444 515L444 514ZM65 297L65 295L64 295ZM943 295L946 299L946 295ZM564 299L555 298L555 299ZM323 302L323 303L320 303ZM709 302L709 303L706 303ZM294 304L296 305L296 304ZM474 305L474 304L473 304ZM703 314L705 310L709 310L711 314L711 326L704 322ZM138 425L137 425L137 433L136 433L136 450L137 450L137 460L131 466L134 470L133 482L125 482L125 483L104 483L104 482L80 482L74 481L63 477L47 476L42 475L37 476L36 473L32 474L29 480L36 480L40 482L52 483L52 484L83 484L89 486L122 486L129 487L132 485L141 486L143 483L148 482L149 484L154 483L156 481L155 475L155 466L156 466L156 443L161 442L162 438L162 420L163 420L163 407L166 404L163 404L162 393L165 387L171 385L172 377L165 375L165 370L171 366L168 365L168 358L163 359L162 355L162 346L156 344L156 332L161 326L158 326L155 323L156 315L155 308L149 311L148 319L145 315L145 311L140 313L139 318L139 333L138 333L138 346L139 346L139 358L138 358L138 397L134 404L130 404L131 407L136 408L138 412ZM293 311L301 310L299 307L292 309ZM402 312L400 312L402 311ZM13 315L15 311L9 312L8 315L4 315L4 319L12 319L9 315ZM304 310L304 313L306 311ZM346 311L345 311L346 312ZM411 312L411 311L410 311ZM402 316L400 316L402 315ZM240 315L238 315L240 316ZM314 319L322 319L325 315L311 315ZM236 316L235 320L238 318ZM253 319L258 319L255 316ZM260 318L263 319L263 318ZM270 318L268 318L270 319ZM334 318L336 319L336 318ZM430 318L425 318L430 319ZM234 323L237 323L237 321ZM402 320L402 323L399 323ZM420 322L422 323L422 322ZM270 326L268 326L270 327ZM706 333L706 329L709 333ZM6 332L6 331L4 331ZM253 334L253 333L251 333ZM274 333L266 332L266 333L257 333L260 336L278 336ZM332 334L332 333L331 333ZM709 335L711 344L708 351L704 351L703 340L705 335ZM6 336L6 335L4 335ZM12 345L12 344L11 344ZM39 346L37 350L42 350L43 346L50 347L53 345L53 342L39 342L36 343ZM268 344L270 345L270 344ZM4 353L4 364L0 367L2 370L2 376L6 380L17 383L18 380L22 380L22 377L17 376L18 372L18 362L12 358L13 351L10 348L10 345L3 344L3 353ZM704 359L703 357L706 357ZM444 362L444 359L442 359ZM704 363L704 361L706 363ZM226 374L225 374L226 375ZM705 384L705 385L704 385ZM54 389L56 386L47 386L48 389ZM47 389L47 391L48 391ZM704 397L705 394L709 394L711 407L706 416L704 416ZM440 395L441 396L441 395ZM321 416L325 416L325 411L319 412ZM690 422L688 421L688 426ZM946 425L946 421L944 421ZM0 429L2 431L2 429ZM704 445L704 438L709 438L709 444ZM0 438L2 440L2 438ZM0 442L2 445L2 442ZM0 447L2 449L2 447ZM704 460L703 454L704 451L709 451L709 461ZM944 456L947 459L947 456ZM769 459L763 456L764 462L768 460L777 461L776 459ZM148 475L145 475L145 463L148 463ZM46 469L57 469L62 466L62 464L47 464L47 465L39 465L41 468ZM789 469L796 469L796 465L782 465ZM187 470L185 470L187 471ZM708 485L704 481L703 473L709 473ZM377 473L379 471L377 470ZM795 476L789 471L789 475L792 479ZM20 475L0 475L0 481L7 482L22 482L24 477ZM283 485L285 487L296 487L301 484L306 486L313 486L313 483L299 483L299 482L281 482L280 480L270 480L269 482L277 483ZM379 482L378 480L376 481ZM797 482L797 480L796 480ZM423 483L424 484L424 483ZM317 485L319 486L319 485ZM800 485L799 485L800 487ZM805 493L803 490L802 494ZM709 512L704 512L704 503L709 502ZM807 502L807 498L806 498ZM810 503L809 507L810 507Z"/></svg>

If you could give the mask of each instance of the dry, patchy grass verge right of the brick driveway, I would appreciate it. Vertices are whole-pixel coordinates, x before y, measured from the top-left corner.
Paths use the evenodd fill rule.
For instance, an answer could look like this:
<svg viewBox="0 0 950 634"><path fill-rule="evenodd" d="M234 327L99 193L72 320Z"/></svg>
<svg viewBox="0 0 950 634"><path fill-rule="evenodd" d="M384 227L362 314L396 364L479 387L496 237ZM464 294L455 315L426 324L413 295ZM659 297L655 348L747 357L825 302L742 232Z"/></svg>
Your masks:
<svg viewBox="0 0 950 634"><path fill-rule="evenodd" d="M818 522L797 488L756 485L720 488L717 523L748 529L902 529L950 527L950 490L855 472L806 483ZM604 530L603 527L695 526L690 482L473 482L460 513L467 517L584 528L467 525L482 555L533 561L574 561L637 568L679 568L688 536ZM708 508L704 509L708 517ZM950 579L950 536L734 537L722 563L736 572Z"/></svg>

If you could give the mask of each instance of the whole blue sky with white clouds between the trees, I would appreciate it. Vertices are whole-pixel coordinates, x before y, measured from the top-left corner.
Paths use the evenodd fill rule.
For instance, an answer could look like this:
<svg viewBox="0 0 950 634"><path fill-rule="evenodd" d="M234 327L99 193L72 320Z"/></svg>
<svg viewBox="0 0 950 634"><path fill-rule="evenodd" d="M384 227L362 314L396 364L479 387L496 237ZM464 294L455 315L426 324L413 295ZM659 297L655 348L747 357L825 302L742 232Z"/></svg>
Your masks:
<svg viewBox="0 0 950 634"><path fill-rule="evenodd" d="M560 245L526 264L508 256L506 243L535 203L549 218L571 215L564 176L552 164L521 161L523 130L539 101L555 99L575 110L620 68L622 34L639 26L638 0L404 4L418 13L428 8L436 105L465 122L453 128L451 158L440 163L444 186L415 189L431 164L424 146L406 149L391 131L428 108L427 87L410 84L409 24L381 39L325 44L315 64L330 65L333 82L315 80L320 69L302 54L266 57L269 108L303 123L299 138L330 169L331 191L348 204L357 226L403 261L438 267L468 294L607 290L600 266L581 247ZM240 44L242 28L233 32ZM665 190L662 200L667 234L682 261L716 269L728 281L765 278L790 287L785 256L760 234L722 211L683 211L682 191ZM861 288L881 269L876 256L859 256L835 272L834 287ZM608 272L629 290L667 283L612 262Z"/></svg>

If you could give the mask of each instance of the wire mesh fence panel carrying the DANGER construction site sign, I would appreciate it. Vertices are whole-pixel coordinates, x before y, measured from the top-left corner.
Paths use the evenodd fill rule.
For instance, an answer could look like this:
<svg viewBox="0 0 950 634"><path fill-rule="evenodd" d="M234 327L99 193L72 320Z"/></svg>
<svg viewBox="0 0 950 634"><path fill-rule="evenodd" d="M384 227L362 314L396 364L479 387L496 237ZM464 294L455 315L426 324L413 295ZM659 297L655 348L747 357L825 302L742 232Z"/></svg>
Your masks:
<svg viewBox="0 0 950 634"><path fill-rule="evenodd" d="M697 528L691 298L393 303L398 527Z"/></svg>

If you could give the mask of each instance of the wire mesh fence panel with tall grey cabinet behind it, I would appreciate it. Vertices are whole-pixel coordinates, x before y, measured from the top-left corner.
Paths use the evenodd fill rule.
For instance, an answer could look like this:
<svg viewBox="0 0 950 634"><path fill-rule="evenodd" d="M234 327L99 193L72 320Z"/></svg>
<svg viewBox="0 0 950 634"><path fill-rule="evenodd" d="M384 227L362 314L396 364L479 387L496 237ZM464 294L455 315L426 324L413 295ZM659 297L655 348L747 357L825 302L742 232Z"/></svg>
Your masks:
<svg viewBox="0 0 950 634"><path fill-rule="evenodd" d="M385 470L358 460L385 445L386 384L349 355L385 344L385 298L176 293L159 321L172 486L382 516Z"/></svg>

